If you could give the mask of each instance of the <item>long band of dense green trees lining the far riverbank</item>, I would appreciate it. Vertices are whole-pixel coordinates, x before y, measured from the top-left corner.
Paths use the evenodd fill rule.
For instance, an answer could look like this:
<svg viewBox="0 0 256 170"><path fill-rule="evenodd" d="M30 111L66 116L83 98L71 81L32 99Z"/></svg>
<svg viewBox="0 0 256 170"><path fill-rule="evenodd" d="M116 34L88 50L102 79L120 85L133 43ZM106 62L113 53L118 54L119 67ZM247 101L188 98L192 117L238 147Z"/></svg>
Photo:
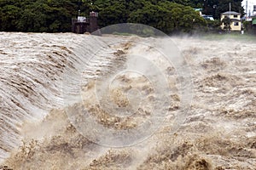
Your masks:
<svg viewBox="0 0 256 170"><path fill-rule="evenodd" d="M230 0L0 0L0 31L63 32L71 30L71 19L99 12L99 26L142 23L165 31L193 31L207 21L193 8L203 8L216 18L229 8ZM232 10L243 12L241 0ZM214 7L214 8L213 8Z"/></svg>

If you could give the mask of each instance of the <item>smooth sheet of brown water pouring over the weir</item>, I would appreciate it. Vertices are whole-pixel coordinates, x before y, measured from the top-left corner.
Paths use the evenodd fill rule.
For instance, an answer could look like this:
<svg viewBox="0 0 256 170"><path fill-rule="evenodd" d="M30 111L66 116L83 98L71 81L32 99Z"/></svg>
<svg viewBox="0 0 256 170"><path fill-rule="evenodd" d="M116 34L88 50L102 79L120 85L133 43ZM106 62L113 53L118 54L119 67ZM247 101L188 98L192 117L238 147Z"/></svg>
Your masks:
<svg viewBox="0 0 256 170"><path fill-rule="evenodd" d="M53 109L63 108L62 81L76 64L90 65L84 74L96 77L102 65L111 66L111 54L91 59L101 43L111 38L76 34L25 34L1 32L0 159L20 145L20 126L41 121ZM125 40L126 41L126 40ZM123 42L125 42L123 41ZM90 67L90 68L89 68ZM67 76L67 75L66 75Z"/></svg>

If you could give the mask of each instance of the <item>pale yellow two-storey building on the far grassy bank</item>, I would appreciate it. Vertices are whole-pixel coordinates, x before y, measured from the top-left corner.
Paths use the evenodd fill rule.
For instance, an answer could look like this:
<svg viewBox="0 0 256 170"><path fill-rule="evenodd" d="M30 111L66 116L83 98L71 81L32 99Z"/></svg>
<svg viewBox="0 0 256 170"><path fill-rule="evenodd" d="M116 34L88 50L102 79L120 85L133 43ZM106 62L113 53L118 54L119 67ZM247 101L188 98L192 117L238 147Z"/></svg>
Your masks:
<svg viewBox="0 0 256 170"><path fill-rule="evenodd" d="M234 11L227 11L220 16L220 20L224 20L225 17L229 17L231 20L230 31L241 31L241 14ZM224 23L221 25L224 30Z"/></svg>

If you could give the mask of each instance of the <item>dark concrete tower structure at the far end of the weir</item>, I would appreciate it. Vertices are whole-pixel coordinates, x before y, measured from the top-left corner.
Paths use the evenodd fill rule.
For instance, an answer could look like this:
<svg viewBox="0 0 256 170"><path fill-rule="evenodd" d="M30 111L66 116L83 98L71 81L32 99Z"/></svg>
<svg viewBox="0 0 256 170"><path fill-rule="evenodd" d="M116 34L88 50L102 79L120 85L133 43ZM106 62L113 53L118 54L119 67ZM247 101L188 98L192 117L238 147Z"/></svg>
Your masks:
<svg viewBox="0 0 256 170"><path fill-rule="evenodd" d="M77 19L72 19L72 32L84 34L84 32L94 32L100 35L99 26L97 23L98 13L90 12L89 19L84 16L79 16Z"/></svg>

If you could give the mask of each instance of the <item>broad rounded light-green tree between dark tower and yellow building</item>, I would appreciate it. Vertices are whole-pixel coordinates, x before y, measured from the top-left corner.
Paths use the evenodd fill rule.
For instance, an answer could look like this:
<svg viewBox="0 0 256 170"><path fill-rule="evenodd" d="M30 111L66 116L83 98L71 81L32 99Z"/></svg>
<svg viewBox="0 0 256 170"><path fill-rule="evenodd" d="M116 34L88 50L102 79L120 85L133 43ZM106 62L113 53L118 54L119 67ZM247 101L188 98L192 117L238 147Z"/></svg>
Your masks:
<svg viewBox="0 0 256 170"><path fill-rule="evenodd" d="M144 6L132 12L128 21L154 26L166 33L189 32L206 26L206 21L193 8L168 1Z"/></svg>

